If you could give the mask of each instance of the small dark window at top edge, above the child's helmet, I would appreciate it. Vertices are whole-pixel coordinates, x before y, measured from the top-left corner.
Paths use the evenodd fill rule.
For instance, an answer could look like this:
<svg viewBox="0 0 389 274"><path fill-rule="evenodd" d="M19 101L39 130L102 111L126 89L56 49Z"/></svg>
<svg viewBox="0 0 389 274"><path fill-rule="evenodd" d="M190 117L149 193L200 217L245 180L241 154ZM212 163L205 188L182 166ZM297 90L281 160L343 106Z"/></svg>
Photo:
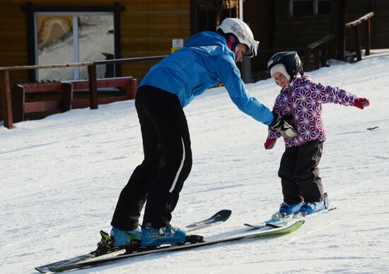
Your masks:
<svg viewBox="0 0 389 274"><path fill-rule="evenodd" d="M316 16L330 13L330 0L289 0L289 16Z"/></svg>

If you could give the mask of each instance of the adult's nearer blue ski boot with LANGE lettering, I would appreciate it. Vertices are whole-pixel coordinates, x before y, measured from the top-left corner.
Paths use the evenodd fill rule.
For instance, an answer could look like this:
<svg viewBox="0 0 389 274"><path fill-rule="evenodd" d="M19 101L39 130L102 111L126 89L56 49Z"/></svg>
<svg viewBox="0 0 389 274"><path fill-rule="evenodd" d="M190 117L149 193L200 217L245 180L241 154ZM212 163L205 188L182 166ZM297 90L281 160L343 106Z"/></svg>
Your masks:
<svg viewBox="0 0 389 274"><path fill-rule="evenodd" d="M202 237L187 234L185 230L178 227L155 228L146 226L142 228L141 246L161 246L162 244L185 244L186 242L202 242Z"/></svg>

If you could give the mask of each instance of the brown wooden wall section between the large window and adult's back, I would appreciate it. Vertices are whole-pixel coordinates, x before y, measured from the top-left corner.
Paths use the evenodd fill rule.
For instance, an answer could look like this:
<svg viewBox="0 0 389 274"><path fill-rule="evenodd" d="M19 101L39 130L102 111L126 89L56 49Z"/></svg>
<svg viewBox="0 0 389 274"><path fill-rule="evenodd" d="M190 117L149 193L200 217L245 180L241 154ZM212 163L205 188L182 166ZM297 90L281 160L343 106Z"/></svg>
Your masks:
<svg viewBox="0 0 389 274"><path fill-rule="evenodd" d="M124 5L125 3L125 5ZM122 58L170 54L172 40L190 37L190 0L126 0L121 17ZM123 64L139 81L154 62Z"/></svg>

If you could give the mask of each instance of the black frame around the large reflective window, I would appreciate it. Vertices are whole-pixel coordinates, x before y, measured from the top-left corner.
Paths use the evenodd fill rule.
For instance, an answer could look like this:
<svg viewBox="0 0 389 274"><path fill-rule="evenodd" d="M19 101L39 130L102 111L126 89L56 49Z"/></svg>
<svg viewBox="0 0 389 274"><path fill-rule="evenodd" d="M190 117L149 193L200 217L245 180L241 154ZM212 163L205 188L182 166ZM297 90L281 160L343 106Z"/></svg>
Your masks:
<svg viewBox="0 0 389 274"><path fill-rule="evenodd" d="M35 6L30 1L22 5L21 10L25 12L27 25L27 63L37 64L37 41L35 17L42 13L113 13L114 20L114 48L115 58L121 58L120 50L120 13L125 10L115 2L112 6ZM78 49L77 49L78 50ZM35 70L28 71L28 81L37 81ZM115 77L120 77L120 64L115 64Z"/></svg>

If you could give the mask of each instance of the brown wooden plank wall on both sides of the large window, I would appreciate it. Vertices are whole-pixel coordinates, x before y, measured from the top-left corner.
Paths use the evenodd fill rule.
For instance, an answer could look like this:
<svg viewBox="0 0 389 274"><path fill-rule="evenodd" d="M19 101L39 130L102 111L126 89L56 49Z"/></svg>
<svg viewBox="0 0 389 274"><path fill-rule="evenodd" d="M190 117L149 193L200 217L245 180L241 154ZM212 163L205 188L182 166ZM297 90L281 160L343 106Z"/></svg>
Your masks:
<svg viewBox="0 0 389 274"><path fill-rule="evenodd" d="M35 6L112 5L110 0L33 0ZM122 0L121 57L170 54L173 38L190 36L190 0ZM25 0L0 0L0 66L27 64ZM141 80L152 64L123 64L122 76ZM12 72L14 82L27 81L26 71Z"/></svg>

